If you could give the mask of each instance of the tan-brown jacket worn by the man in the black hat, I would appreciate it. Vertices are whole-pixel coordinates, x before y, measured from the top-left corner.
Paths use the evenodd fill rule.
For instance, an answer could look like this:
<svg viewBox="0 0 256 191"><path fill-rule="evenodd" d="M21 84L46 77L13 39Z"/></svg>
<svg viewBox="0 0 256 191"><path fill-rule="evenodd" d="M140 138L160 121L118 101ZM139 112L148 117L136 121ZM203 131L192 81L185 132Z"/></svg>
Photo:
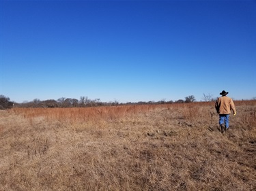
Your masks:
<svg viewBox="0 0 256 191"><path fill-rule="evenodd" d="M219 97L215 103L215 108L218 114L231 114L231 110L233 113L236 112L233 100L227 96Z"/></svg>

